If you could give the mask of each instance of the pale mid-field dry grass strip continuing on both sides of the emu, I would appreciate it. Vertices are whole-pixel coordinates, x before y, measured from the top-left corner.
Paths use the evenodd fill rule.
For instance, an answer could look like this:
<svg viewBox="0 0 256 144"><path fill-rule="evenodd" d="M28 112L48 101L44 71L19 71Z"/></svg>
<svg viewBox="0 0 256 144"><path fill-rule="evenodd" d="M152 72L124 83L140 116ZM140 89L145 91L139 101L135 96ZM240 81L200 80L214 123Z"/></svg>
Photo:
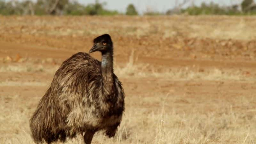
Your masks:
<svg viewBox="0 0 256 144"><path fill-rule="evenodd" d="M59 65L54 67L27 63L25 65L6 65L0 67L0 72L44 72L54 74ZM201 71L198 67L167 67L163 70L156 71L149 64L135 64L133 54L130 55L129 61L122 67L117 65L115 68L116 75L120 77L157 77L168 78L173 80L236 80L236 81L255 81L255 76L246 76L240 70L229 70L211 68ZM0 85L3 84L0 83Z"/></svg>

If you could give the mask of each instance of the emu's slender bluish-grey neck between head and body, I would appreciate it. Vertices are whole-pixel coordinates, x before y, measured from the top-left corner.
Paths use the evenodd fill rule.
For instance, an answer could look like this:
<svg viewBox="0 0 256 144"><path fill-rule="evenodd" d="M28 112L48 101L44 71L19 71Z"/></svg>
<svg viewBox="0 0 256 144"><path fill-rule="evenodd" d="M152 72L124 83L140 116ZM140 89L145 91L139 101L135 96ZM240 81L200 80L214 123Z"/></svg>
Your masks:
<svg viewBox="0 0 256 144"><path fill-rule="evenodd" d="M108 94L113 92L113 52L102 53L101 61L102 83Z"/></svg>

